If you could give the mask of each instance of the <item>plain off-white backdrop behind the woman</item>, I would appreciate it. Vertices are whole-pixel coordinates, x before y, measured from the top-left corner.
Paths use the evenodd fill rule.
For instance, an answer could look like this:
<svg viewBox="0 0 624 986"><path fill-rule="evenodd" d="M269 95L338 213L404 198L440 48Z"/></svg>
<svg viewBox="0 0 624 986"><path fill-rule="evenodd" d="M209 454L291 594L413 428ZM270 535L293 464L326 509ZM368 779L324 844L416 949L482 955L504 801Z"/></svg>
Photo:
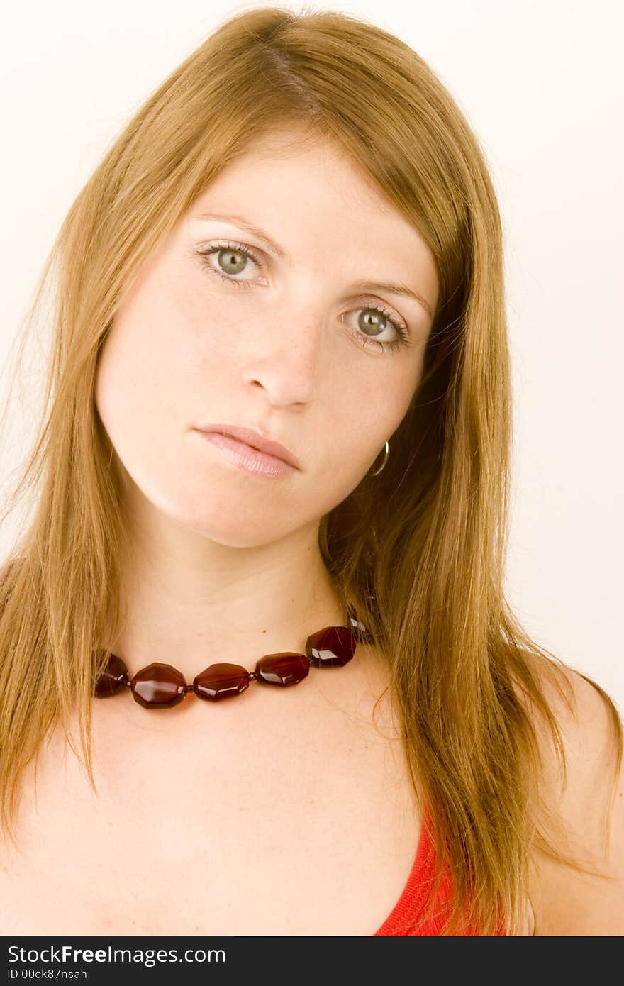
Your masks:
<svg viewBox="0 0 624 986"><path fill-rule="evenodd" d="M277 5L340 10L401 37L485 150L505 227L514 363L508 595L537 641L597 680L622 713L624 5ZM257 6L13 7L0 39L3 366L43 259L104 150L174 66L228 17ZM0 384L6 392L6 370ZM25 429L15 449L27 441ZM2 476L14 466L5 456Z"/></svg>

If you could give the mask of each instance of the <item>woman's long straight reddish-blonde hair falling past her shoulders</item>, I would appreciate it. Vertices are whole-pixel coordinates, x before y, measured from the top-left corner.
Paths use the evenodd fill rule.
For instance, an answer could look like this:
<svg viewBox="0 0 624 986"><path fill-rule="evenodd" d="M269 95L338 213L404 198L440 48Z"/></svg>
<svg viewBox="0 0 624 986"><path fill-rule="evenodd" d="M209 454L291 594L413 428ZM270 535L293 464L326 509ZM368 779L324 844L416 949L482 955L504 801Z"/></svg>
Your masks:
<svg viewBox="0 0 624 986"><path fill-rule="evenodd" d="M503 588L512 414L501 220L484 154L448 91L407 44L345 14L265 7L223 23L114 141L46 261L32 308L34 317L53 282L44 409L3 514L31 492L33 517L0 590L2 825L13 838L25 768L51 727L61 722L67 737L72 708L95 789L92 689L110 652L94 648L119 619L125 536L94 404L107 330L141 265L211 179L255 137L291 123L366 169L437 264L423 378L387 465L322 519L319 544L390 669L436 838L428 914L448 864L455 894L442 934L463 921L495 934L501 917L509 934L533 845L592 871L538 823L539 743L520 692L565 771L529 659L564 666L523 631ZM619 769L618 713L591 684L611 713Z"/></svg>

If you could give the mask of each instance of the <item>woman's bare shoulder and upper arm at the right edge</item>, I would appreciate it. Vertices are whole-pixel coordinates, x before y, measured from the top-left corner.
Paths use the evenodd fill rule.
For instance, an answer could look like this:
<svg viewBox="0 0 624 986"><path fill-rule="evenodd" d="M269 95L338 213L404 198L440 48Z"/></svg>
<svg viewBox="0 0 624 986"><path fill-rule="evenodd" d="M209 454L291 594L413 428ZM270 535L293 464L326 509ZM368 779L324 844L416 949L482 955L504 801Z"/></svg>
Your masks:
<svg viewBox="0 0 624 986"><path fill-rule="evenodd" d="M529 897L537 936L624 935L624 773L617 709L580 671L526 655L556 718L565 774L552 734L535 717L543 760L546 836L606 879L579 873L536 848ZM617 785L611 809L611 794Z"/></svg>

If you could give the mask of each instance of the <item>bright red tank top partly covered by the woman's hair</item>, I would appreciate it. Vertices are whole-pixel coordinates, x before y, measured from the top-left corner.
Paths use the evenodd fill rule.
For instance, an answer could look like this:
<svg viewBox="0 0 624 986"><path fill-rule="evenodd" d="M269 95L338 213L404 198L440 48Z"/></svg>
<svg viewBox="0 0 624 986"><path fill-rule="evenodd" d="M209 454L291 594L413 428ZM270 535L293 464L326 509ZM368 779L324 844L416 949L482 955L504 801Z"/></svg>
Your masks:
<svg viewBox="0 0 624 986"><path fill-rule="evenodd" d="M375 932L374 938L390 935L433 937L441 933L451 904L452 881L448 867L445 869L440 883L434 917L429 921L424 921L421 917L421 912L424 910L428 899L429 889L433 886L436 875L436 845L430 832L430 824L429 811L425 806L414 865L400 897L381 928ZM463 931L455 934L457 936L473 936L479 935L479 932L474 928L465 927ZM504 929L499 927L497 935L504 936L505 934Z"/></svg>

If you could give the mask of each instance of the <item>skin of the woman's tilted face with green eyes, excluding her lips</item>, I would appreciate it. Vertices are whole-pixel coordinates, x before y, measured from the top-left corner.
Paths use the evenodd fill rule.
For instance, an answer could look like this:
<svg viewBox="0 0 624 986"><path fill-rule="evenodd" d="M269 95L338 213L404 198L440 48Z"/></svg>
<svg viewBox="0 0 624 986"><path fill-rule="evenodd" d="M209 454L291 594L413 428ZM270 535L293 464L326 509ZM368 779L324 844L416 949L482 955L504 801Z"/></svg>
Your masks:
<svg viewBox="0 0 624 986"><path fill-rule="evenodd" d="M96 382L135 499L239 547L315 524L358 485L418 386L438 300L428 247L356 164L269 139L150 259ZM280 442L299 468L240 468L196 430L211 423Z"/></svg>

